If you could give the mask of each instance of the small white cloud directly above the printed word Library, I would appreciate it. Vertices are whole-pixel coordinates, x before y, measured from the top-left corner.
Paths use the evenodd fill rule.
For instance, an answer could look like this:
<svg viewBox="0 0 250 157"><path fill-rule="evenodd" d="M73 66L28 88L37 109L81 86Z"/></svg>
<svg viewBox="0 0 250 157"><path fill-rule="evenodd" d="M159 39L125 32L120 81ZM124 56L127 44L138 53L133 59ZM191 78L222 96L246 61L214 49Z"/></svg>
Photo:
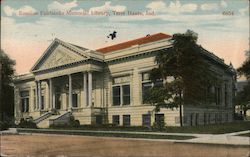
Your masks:
<svg viewBox="0 0 250 157"><path fill-rule="evenodd" d="M111 5L111 2L105 2L104 5L99 6L99 7L92 7L89 9L90 12L93 11L100 11L100 12L106 12L106 11L117 11L117 12L123 12L126 10L126 6L122 6L122 5Z"/></svg>

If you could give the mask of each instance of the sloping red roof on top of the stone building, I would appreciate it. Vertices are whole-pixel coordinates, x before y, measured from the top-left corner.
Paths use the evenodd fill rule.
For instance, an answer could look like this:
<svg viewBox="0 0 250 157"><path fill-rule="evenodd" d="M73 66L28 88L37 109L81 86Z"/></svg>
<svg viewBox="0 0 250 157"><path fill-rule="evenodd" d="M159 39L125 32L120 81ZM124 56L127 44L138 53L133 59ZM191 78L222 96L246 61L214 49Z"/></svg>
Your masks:
<svg viewBox="0 0 250 157"><path fill-rule="evenodd" d="M168 35L168 34L157 33L157 34L149 35L146 37L142 37L142 38L138 38L138 39L134 39L134 40L129 40L129 41L119 43L116 45L100 48L100 49L97 49L96 51L101 52L101 53L108 53L108 52L112 52L112 51L125 49L125 48L131 47L133 45L142 45L142 44L155 42L155 41L162 40L162 39L167 39L170 37L172 37L172 36Z"/></svg>

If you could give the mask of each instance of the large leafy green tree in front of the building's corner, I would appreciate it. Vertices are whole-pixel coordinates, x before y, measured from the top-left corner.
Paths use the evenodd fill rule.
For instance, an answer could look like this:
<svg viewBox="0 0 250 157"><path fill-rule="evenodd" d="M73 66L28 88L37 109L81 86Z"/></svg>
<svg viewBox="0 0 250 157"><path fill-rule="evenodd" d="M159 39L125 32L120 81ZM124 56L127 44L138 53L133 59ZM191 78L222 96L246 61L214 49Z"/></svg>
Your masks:
<svg viewBox="0 0 250 157"><path fill-rule="evenodd" d="M201 54L201 47L196 44L198 35L190 30L184 34L173 35L173 46L156 56L158 67L150 73L150 79L156 83L166 80L164 86L157 86L146 92L145 102L160 108L180 109L180 125L182 122L182 106L202 105L211 102L211 87L217 79L210 64Z"/></svg>

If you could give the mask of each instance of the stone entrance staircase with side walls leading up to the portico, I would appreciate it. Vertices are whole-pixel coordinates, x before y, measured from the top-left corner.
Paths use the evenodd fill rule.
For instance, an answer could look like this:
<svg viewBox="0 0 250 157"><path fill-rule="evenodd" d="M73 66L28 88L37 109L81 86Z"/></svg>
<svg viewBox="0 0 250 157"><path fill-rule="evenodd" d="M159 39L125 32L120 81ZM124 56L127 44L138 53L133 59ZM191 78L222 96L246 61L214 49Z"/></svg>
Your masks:
<svg viewBox="0 0 250 157"><path fill-rule="evenodd" d="M39 128L49 128L51 125L67 124L70 116L70 111L59 111L56 114L47 112L35 119L34 122Z"/></svg>

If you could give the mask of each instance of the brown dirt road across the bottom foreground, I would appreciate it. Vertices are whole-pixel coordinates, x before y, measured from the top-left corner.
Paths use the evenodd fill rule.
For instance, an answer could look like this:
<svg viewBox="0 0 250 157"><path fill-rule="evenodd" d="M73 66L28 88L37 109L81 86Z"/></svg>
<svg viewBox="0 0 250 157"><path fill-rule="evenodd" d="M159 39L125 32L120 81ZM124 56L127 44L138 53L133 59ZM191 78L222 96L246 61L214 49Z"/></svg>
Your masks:
<svg viewBox="0 0 250 157"><path fill-rule="evenodd" d="M13 156L248 157L247 147L70 135L3 135L1 153Z"/></svg>

